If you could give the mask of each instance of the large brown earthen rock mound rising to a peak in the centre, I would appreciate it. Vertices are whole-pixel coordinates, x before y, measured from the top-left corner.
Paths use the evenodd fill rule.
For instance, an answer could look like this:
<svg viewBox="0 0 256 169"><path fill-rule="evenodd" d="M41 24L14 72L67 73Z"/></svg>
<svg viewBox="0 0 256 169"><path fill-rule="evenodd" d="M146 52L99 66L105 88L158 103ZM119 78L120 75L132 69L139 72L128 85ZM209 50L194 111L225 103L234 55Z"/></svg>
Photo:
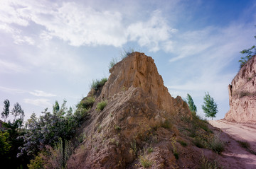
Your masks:
<svg viewBox="0 0 256 169"><path fill-rule="evenodd" d="M151 168L176 168L171 138L177 136L176 119L191 119L188 105L181 97L172 98L164 86L154 60L145 54L134 52L110 69L111 75L95 104L90 117L82 124L83 141L68 160L68 168L134 168L139 154L154 147L154 152L144 153ZM107 106L96 110L102 100ZM171 129L170 129L171 128ZM177 145L179 151L183 147ZM184 150L184 154L192 151ZM201 156L201 151L186 158ZM180 158L180 165L186 161ZM193 158L188 166L196 166ZM136 167L137 168L137 167Z"/></svg>

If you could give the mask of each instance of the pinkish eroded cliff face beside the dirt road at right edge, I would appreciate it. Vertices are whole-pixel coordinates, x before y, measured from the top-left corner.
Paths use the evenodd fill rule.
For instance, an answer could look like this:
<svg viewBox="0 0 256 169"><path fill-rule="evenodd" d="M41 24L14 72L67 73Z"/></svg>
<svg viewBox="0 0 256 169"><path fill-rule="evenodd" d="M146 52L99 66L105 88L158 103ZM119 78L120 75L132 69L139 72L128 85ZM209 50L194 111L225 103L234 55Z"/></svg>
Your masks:
<svg viewBox="0 0 256 169"><path fill-rule="evenodd" d="M252 57L228 86L230 110L225 120L256 122L256 56Z"/></svg>

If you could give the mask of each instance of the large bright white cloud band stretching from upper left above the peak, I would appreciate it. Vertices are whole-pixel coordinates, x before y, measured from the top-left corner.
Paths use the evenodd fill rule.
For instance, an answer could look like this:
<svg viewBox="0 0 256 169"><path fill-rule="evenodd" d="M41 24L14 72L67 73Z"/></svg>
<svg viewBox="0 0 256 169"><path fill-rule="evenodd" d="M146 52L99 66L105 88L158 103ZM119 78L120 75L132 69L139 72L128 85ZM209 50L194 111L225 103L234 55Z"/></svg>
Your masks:
<svg viewBox="0 0 256 169"><path fill-rule="evenodd" d="M75 2L53 3L48 1L3 1L4 10L0 14L0 22L16 23L29 27L30 23L42 25L41 40L58 37L72 46L112 45L122 47L129 41L137 41L151 52L159 49L171 50L171 28L161 11L154 11L147 21L136 21L125 18L122 12L97 11L95 8L76 4ZM7 19L8 16L11 19ZM7 28L5 28L7 31ZM14 33L14 31L13 31ZM15 34L15 33L14 33ZM14 42L34 45L31 37L14 35ZM168 46L167 46L168 45Z"/></svg>

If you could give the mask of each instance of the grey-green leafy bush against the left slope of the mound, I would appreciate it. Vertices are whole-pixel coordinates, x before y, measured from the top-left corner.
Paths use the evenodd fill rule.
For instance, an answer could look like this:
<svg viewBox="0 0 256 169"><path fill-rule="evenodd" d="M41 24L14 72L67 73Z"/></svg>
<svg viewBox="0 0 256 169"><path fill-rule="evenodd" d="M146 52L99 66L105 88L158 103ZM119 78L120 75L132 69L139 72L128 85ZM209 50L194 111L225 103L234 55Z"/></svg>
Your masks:
<svg viewBox="0 0 256 169"><path fill-rule="evenodd" d="M65 100L61 107L58 102L55 102L53 113L46 109L39 118L34 113L31 115L26 123L26 134L21 136L24 144L20 147L21 152L18 153L18 156L23 153L28 156L36 154L46 145L53 146L60 137L63 140L72 138L79 123L77 117L72 114L71 107L68 109L65 104Z"/></svg>

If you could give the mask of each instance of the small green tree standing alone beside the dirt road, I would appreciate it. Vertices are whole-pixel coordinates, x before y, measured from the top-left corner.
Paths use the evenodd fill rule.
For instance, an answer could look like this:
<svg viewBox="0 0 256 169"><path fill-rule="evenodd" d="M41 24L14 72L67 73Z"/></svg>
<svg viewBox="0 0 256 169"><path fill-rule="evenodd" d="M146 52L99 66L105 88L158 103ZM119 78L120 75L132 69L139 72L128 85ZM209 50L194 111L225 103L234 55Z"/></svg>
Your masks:
<svg viewBox="0 0 256 169"><path fill-rule="evenodd" d="M215 115L218 112L217 103L214 102L209 93L206 93L203 100L205 100L203 102L204 105L202 105L203 112L206 113L206 117L211 117L213 120L213 117L216 117Z"/></svg>

